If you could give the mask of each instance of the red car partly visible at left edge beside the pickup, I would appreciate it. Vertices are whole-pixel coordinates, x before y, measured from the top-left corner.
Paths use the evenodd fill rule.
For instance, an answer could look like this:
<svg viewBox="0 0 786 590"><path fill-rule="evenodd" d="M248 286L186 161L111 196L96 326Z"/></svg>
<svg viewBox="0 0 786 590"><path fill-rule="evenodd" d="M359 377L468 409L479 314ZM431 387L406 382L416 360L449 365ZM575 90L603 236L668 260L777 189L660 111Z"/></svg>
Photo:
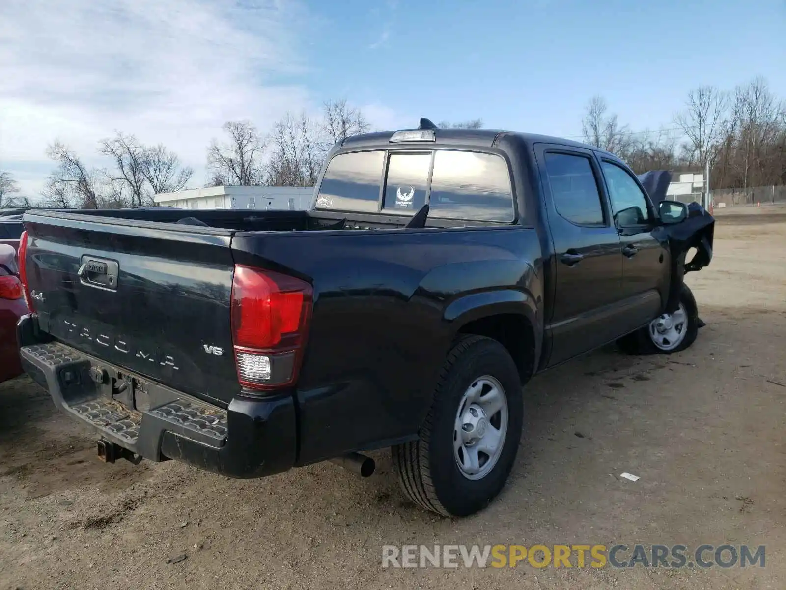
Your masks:
<svg viewBox="0 0 786 590"><path fill-rule="evenodd" d="M17 251L0 243L0 382L22 372L17 346L17 322L28 313L19 280Z"/></svg>

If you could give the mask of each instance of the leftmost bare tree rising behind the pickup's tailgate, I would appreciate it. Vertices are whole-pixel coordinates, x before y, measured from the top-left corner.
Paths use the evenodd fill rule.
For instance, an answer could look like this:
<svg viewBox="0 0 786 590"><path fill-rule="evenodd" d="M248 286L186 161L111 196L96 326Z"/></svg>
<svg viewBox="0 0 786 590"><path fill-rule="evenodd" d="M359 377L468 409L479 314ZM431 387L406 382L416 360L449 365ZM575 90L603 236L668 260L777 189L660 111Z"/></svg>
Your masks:
<svg viewBox="0 0 786 590"><path fill-rule="evenodd" d="M49 146L46 154L58 164L43 192L50 205L61 208L78 205L86 209L101 206L99 179L102 171L87 168L72 149L59 141Z"/></svg>

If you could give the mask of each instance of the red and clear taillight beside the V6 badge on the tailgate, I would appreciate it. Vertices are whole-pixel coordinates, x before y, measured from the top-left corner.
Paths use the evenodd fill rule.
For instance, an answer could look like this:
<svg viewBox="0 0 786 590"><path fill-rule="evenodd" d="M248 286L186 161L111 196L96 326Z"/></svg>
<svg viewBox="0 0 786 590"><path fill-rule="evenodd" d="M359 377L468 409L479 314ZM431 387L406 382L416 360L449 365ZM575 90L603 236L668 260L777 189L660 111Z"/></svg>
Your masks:
<svg viewBox="0 0 786 590"><path fill-rule="evenodd" d="M241 385L273 389L296 382L312 294L299 278L235 267L230 315Z"/></svg>

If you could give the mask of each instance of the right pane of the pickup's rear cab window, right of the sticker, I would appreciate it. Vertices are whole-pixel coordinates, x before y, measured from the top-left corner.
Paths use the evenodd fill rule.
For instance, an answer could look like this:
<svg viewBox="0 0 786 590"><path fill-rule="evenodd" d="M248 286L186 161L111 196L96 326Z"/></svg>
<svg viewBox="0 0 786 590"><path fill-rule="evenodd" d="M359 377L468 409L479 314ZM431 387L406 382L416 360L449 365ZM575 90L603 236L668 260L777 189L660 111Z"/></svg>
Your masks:
<svg viewBox="0 0 786 590"><path fill-rule="evenodd" d="M512 221L508 164L493 153L437 151L428 205L435 217Z"/></svg>

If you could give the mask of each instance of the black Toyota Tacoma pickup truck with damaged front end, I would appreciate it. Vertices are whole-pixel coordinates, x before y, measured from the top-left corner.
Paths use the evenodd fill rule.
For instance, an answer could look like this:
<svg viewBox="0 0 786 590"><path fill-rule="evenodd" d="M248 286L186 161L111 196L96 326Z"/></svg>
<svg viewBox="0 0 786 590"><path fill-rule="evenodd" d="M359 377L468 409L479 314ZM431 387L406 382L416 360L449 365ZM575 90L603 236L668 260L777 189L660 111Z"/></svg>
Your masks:
<svg viewBox="0 0 786 590"><path fill-rule="evenodd" d="M107 461L368 474L389 446L412 500L465 515L508 478L534 373L696 338L682 276L713 220L611 153L424 120L336 145L313 205L26 212L25 370Z"/></svg>

